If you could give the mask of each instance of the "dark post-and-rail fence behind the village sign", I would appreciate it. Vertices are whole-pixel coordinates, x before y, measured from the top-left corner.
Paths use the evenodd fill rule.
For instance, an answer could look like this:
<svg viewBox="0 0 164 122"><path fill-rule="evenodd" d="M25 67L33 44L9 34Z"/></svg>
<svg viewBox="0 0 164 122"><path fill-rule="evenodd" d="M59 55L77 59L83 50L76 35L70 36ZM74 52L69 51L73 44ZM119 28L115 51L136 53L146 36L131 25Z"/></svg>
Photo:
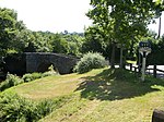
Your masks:
<svg viewBox="0 0 164 122"><path fill-rule="evenodd" d="M140 73L141 69L138 65L134 66L134 65L132 65L132 63L128 63L128 65L130 66L130 71L134 71L136 73ZM148 68L147 71L149 71L149 73L150 73L150 71L153 71L152 73L153 73L154 77L157 77L157 72L162 72L164 74L164 70L157 69L156 65L153 65L152 69Z"/></svg>

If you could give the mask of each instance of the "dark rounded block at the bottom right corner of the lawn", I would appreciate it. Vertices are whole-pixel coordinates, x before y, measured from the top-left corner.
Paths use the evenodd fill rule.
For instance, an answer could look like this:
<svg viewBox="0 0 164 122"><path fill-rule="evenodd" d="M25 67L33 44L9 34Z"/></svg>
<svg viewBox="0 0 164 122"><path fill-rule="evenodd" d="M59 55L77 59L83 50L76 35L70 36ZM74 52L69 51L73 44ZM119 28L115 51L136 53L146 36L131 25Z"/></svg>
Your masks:
<svg viewBox="0 0 164 122"><path fill-rule="evenodd" d="M153 111L152 122L164 122L164 110L155 109Z"/></svg>

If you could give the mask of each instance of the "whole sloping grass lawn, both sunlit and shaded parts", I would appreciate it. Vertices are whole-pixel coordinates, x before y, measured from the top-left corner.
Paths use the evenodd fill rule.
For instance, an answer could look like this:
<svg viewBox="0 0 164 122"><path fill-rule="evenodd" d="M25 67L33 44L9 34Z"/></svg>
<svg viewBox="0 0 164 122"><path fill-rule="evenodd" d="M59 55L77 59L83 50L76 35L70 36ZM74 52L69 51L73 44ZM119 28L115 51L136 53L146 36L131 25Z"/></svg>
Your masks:
<svg viewBox="0 0 164 122"><path fill-rule="evenodd" d="M130 71L107 68L48 76L8 91L36 101L70 97L40 122L151 122L153 110L164 107L163 80L147 76L143 83Z"/></svg>

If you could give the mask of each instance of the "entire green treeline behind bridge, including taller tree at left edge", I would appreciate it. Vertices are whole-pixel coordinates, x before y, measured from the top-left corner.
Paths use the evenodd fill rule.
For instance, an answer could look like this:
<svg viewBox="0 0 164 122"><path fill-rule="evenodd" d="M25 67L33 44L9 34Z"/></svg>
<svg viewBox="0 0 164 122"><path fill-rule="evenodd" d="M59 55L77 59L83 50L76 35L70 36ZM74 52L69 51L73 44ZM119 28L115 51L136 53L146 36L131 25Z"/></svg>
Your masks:
<svg viewBox="0 0 164 122"><path fill-rule="evenodd" d="M0 56L22 52L80 54L81 34L32 32L17 21L14 10L0 8Z"/></svg>

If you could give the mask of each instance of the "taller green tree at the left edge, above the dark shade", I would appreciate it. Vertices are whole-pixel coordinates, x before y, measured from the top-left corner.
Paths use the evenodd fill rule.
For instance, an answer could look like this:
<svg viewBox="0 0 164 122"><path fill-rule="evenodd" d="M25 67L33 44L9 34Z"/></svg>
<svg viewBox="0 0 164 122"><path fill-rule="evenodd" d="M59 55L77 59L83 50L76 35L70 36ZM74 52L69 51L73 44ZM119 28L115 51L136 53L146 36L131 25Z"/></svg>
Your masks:
<svg viewBox="0 0 164 122"><path fill-rule="evenodd" d="M14 10L0 8L0 56L20 52L25 41L20 39L21 30L25 29L23 22L17 21L17 13Z"/></svg>

